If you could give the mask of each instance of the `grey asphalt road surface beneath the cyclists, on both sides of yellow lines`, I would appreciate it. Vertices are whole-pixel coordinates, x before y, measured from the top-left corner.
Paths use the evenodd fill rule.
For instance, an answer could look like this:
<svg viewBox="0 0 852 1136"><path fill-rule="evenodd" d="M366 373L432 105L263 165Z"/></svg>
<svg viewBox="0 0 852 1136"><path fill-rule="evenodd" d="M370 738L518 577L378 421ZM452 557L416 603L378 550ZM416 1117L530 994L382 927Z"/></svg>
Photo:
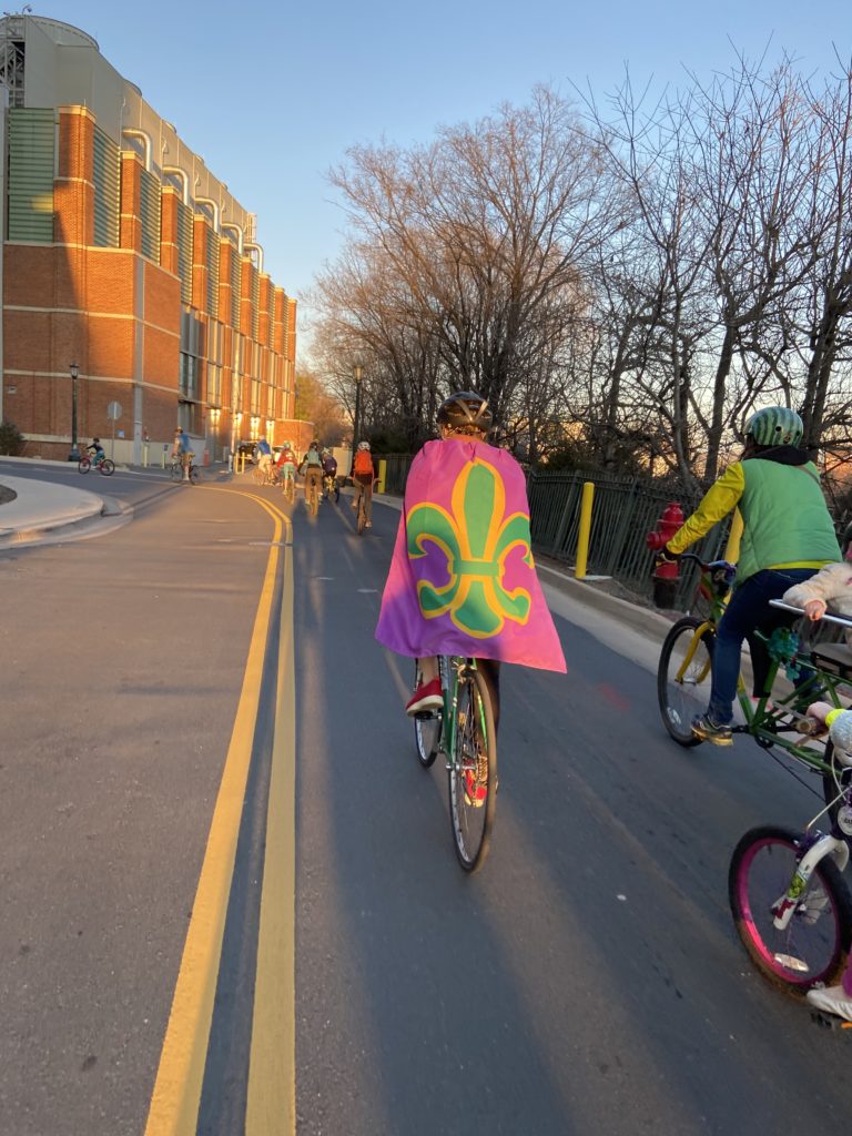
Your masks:
<svg viewBox="0 0 852 1136"><path fill-rule="evenodd" d="M130 525L0 553L2 1133L145 1131L273 556L233 487L117 473ZM364 537L352 517L299 506L277 542L198 1121L174 1130L243 1130L282 829L300 1134L842 1130L849 1043L753 972L726 899L740 835L817 799L747 738L674 745L657 644L549 590L569 673L506 669L494 841L466 877L410 665L373 640L398 515ZM289 602L295 792L269 830ZM273 1117L253 1130L291 1130Z"/></svg>

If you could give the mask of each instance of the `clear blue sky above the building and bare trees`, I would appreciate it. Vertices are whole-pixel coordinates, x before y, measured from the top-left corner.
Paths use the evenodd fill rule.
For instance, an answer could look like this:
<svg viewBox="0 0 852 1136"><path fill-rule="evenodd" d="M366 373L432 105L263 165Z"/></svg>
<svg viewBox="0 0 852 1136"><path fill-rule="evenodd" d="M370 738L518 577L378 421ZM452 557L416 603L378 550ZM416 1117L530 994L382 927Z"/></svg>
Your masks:
<svg viewBox="0 0 852 1136"><path fill-rule="evenodd" d="M852 52L849 0L56 0L34 9L93 35L258 215L264 267L295 296L341 247L345 222L326 174L354 143L428 142L441 123L524 103L540 82L566 95L590 84L602 99L625 64L634 84L662 89L682 84L684 68L727 69L734 48L757 57L769 44L772 59L786 49L805 73L830 69L833 43Z"/></svg>

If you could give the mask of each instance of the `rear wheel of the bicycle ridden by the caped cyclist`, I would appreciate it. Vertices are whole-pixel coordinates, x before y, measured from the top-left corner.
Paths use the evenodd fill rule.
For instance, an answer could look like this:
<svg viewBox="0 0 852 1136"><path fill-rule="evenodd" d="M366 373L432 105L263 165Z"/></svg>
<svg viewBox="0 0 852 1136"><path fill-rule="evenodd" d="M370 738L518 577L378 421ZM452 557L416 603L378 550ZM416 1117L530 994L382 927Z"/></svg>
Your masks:
<svg viewBox="0 0 852 1136"><path fill-rule="evenodd" d="M450 755L450 822L456 855L465 871L482 868L496 809L496 730L491 695L478 670L457 679Z"/></svg>

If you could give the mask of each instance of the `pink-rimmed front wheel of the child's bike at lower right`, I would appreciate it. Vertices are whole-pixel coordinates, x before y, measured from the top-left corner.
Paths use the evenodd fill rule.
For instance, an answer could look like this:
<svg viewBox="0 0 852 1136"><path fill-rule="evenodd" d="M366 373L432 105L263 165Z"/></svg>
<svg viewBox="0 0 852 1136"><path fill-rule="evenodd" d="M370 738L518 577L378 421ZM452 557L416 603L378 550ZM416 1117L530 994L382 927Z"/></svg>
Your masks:
<svg viewBox="0 0 852 1136"><path fill-rule="evenodd" d="M793 995L837 982L852 936L852 900L830 859L815 868L784 930L775 927L774 908L795 875L800 838L788 828L752 828L728 871L728 901L743 946L765 978Z"/></svg>

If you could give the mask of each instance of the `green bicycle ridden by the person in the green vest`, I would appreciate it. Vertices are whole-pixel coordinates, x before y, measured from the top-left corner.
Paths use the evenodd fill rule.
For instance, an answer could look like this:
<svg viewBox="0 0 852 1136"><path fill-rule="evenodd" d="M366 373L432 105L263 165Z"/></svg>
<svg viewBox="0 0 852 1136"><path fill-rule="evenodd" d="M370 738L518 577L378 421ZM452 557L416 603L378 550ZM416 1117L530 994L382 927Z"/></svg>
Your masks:
<svg viewBox="0 0 852 1136"><path fill-rule="evenodd" d="M701 744L692 733L692 719L707 709L710 701L716 627L725 611L734 566L724 560L704 563L700 557L686 552L682 561L693 561L700 569L698 594L709 603L705 618L686 615L671 626L660 651L657 671L657 695L662 721L679 744L686 747ZM788 621L801 618L799 608L791 608L780 600L770 601ZM825 616L825 621L852 627L847 620ZM810 720L803 708L817 699L842 705L841 690L845 686L846 700L852 694L852 650L845 643L809 643L807 632L795 635L790 628L770 634L758 633L758 638L769 651L769 674L761 696L752 699L741 674L737 700L744 722L734 724L734 734L750 734L762 749L778 747L797 763L821 778L822 797L834 820L850 785L850 770L835 760L830 741L807 736ZM780 632L780 634L779 634ZM783 687L779 671L795 675L796 686Z"/></svg>

